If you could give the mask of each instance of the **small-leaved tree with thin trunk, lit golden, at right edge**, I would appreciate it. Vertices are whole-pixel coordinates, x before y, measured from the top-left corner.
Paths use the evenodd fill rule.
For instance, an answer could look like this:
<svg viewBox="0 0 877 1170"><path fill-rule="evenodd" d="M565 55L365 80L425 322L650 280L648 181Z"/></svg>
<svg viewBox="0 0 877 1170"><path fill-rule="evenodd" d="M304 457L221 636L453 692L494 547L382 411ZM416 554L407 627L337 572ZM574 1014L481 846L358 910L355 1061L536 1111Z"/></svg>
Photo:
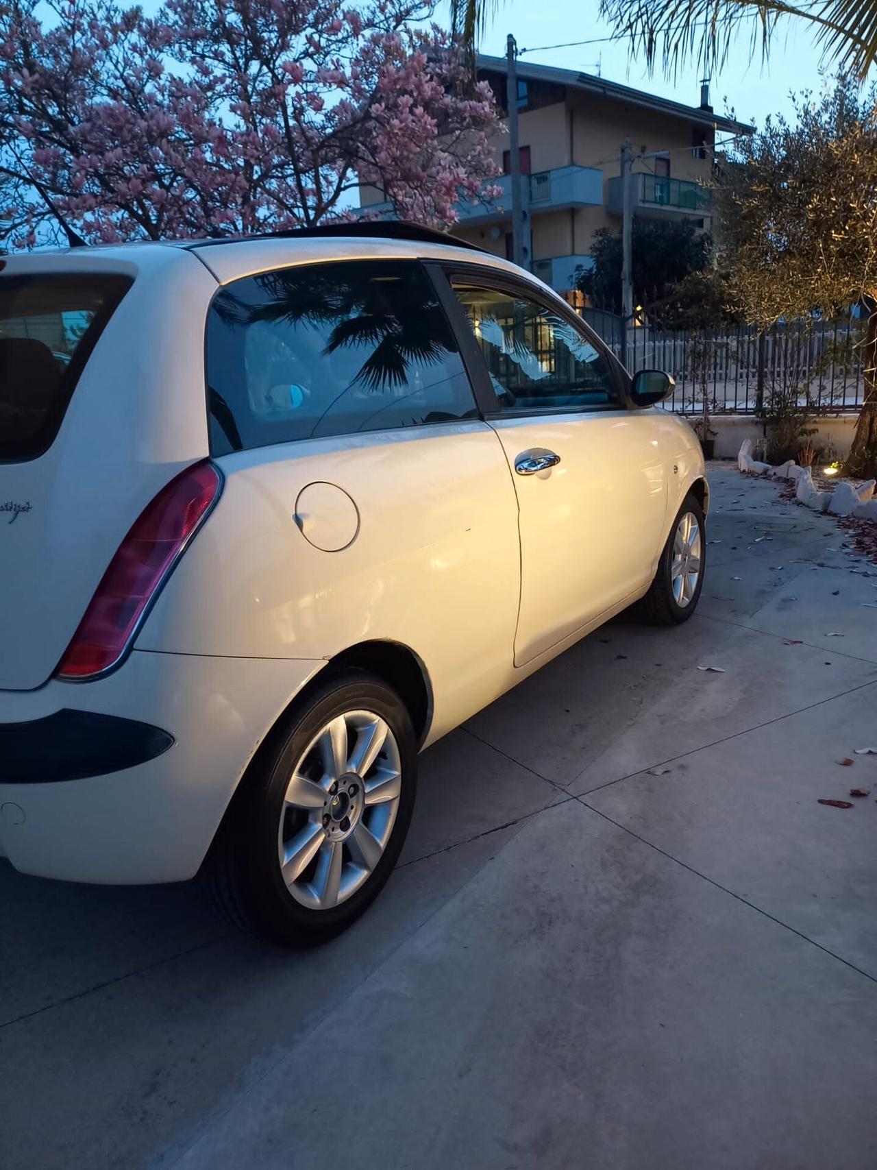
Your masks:
<svg viewBox="0 0 877 1170"><path fill-rule="evenodd" d="M750 321L859 304L864 404L848 469L877 475L877 92L840 84L744 139L719 183L723 260Z"/></svg>

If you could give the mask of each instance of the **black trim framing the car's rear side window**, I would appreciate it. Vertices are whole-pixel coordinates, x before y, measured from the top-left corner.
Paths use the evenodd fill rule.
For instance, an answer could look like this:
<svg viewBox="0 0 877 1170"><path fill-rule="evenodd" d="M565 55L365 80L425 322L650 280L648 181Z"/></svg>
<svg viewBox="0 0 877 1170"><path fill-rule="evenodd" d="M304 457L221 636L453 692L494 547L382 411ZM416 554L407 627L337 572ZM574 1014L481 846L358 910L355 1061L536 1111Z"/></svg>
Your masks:
<svg viewBox="0 0 877 1170"><path fill-rule="evenodd" d="M472 245L471 247L475 248L476 246ZM478 397L478 393L476 392L475 383L472 381L472 376L471 376L471 372L470 372L470 369L469 369L469 362L467 359L467 352L465 352L465 350L463 347L463 344L462 344L462 340L465 340L465 333L462 333L462 337L461 337L461 330L458 330L457 328L455 328L455 316L456 316L456 314L455 312L453 314L453 312L448 311L450 302L448 300L446 300L446 297L442 295L441 284L436 283L436 281L435 281L435 278L433 276L433 273L430 271L431 264L428 261L423 260L420 256L372 256L372 255L362 255L362 256L343 256L343 255L340 255L340 256L330 256L330 257L326 257L325 260L308 260L308 261L304 261L304 262L302 262L302 261L290 261L290 263L286 263L286 264L276 264L274 268L265 268L265 269L262 269L262 270L260 270L257 273L244 273L241 276L235 276L233 280L226 281L225 283L220 284L216 288L216 290L214 291L213 296L210 297L210 303L207 305L207 312L205 314L205 324L203 324L205 414L206 414L206 419L207 419L207 442L208 442L208 448L210 450L210 457L212 459L221 459L222 454L223 454L223 453L216 454L214 452L214 449L213 449L213 434L212 434L212 432L213 432L213 421L214 420L215 420L216 425L220 427L220 429L225 433L226 439L228 440L229 447L232 448L232 450L228 452L227 454L233 454L233 455L234 454L240 454L241 452L247 452L247 450L267 450L267 449L269 449L271 447L282 447L282 446L285 446L285 445L292 443L292 442L295 442L295 443L301 443L301 442L319 442L319 441L322 441L323 439L326 439L326 438L336 438L334 435L312 435L312 436L310 436L308 439L277 440L276 442L262 443L258 447L248 447L248 446L246 446L241 441L240 433L237 432L237 425L234 421L234 417L232 415L232 412L230 412L230 410L228 407L228 404L222 398L222 395L209 383L208 333L209 333L210 315L212 315L212 312L214 310L214 303L215 303L215 301L223 292L228 292L229 289L234 288L234 285L237 284L240 281L251 280L253 277L256 277L256 276L270 275L271 273L282 273L282 271L285 271L286 269L290 269L290 268L310 268L310 267L317 267L317 266L319 266L320 268L323 268L323 267L331 266L331 264L350 264L350 263L360 263L360 262L361 263L381 263L381 262L385 262L385 261L389 261L389 262L393 262L393 263L402 262L402 263L407 263L407 264L416 264L421 269L421 271L423 273L428 287L431 288L431 289L434 289L434 291L437 294L440 308L444 312L446 323L448 325L450 335L454 338L454 340L457 343L457 349L458 349L458 352L460 352L460 356L461 356L461 360L463 363L463 371L467 374L467 378L468 378L468 381L469 381L469 391L470 391L470 393L472 395L472 406L474 406L476 413L471 418L437 419L434 422L421 422L421 424L416 424L415 426L385 427L381 431L361 432L361 434L375 434L377 435L377 434L388 434L391 432L393 432L393 433L396 433L396 432L412 433L413 432L412 436L415 438L416 436L416 432L421 431L424 426L426 427L443 427L443 426L448 426L449 424L454 424L454 425L458 426L461 422L478 422L478 421L483 422L484 421L484 413L482 411L481 399ZM460 304L460 302L457 301L457 298L454 296L454 291L450 288L450 285L447 284L447 281L446 281L446 285L447 285L448 296L454 298L454 304L457 307L457 309L462 309L462 305ZM476 350L477 350L477 343L475 342L475 337L472 336L471 329L468 328L468 322L467 322L467 331L468 331L469 338L471 338L471 342L476 346ZM477 357L478 357L478 359L481 359L481 353L479 352L477 353ZM486 367L485 367L485 372L486 372ZM490 386L490 391L492 393L492 386ZM225 421L222 421L220 419L219 413L217 413L217 408L219 408L220 413L226 412L226 419L225 419ZM229 429L229 426L228 426L229 422L230 422L230 427L235 432L234 435L232 434L232 431ZM354 434L354 433L357 433L357 432L341 432L341 434ZM235 445L235 442L234 442L235 439L236 439L236 441L237 441L237 443L240 446Z"/></svg>

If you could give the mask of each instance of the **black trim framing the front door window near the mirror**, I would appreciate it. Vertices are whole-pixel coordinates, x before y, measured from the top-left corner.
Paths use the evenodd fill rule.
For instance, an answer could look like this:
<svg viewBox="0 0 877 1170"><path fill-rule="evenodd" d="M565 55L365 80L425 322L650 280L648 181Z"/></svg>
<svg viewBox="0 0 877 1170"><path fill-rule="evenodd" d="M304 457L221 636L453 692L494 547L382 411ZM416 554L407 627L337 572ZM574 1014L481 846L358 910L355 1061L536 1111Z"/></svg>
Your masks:
<svg viewBox="0 0 877 1170"><path fill-rule="evenodd" d="M525 277L519 277L513 273L486 264L468 264L463 261L428 261L424 262L423 267L433 278L438 298L457 337L457 344L463 356L469 381L472 385L478 408L485 421L548 414L607 414L610 411L627 411L630 408L630 377L627 371L602 338L569 308L562 297L557 297L555 300L550 294L546 295L545 290L538 284L531 284ZM502 410L499 399L493 390L493 384L490 380L488 363L469 323L469 316L451 287L451 280L455 276L464 280L483 281L486 288L493 288L499 292L510 292L513 296L522 296L566 321L585 337L589 345L593 345L606 358L615 383L617 402L609 402L605 406L534 406L526 410Z"/></svg>

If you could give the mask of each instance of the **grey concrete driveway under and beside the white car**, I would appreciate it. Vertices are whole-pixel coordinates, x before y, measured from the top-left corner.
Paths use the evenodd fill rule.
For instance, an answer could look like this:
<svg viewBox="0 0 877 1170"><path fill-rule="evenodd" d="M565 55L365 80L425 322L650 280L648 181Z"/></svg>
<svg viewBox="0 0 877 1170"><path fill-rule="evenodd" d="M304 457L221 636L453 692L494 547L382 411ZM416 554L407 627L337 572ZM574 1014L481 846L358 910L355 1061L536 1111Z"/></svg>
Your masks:
<svg viewBox="0 0 877 1170"><path fill-rule="evenodd" d="M711 480L697 617L615 621L430 749L332 945L0 862L0 1165L872 1170L877 576Z"/></svg>

